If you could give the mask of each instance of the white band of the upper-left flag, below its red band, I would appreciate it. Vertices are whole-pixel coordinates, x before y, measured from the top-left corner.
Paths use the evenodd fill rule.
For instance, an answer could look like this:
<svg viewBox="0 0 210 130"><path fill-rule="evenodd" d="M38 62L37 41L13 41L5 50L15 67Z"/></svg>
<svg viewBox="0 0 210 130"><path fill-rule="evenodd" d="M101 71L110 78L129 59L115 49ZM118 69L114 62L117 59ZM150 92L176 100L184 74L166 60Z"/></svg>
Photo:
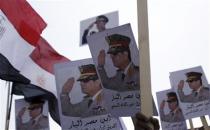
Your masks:
<svg viewBox="0 0 210 130"><path fill-rule="evenodd" d="M0 10L0 53L8 59L12 66L20 70L26 57L29 57L34 49L34 46L19 35Z"/></svg>

